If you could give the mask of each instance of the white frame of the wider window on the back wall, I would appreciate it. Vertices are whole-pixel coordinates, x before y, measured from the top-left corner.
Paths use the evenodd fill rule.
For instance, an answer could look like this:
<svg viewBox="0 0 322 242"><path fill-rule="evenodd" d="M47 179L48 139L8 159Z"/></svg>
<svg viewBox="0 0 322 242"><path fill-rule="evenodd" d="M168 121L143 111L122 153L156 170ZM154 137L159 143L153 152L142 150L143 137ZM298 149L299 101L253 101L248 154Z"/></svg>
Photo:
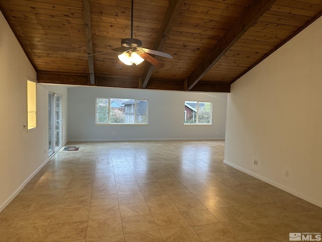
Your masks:
<svg viewBox="0 0 322 242"><path fill-rule="evenodd" d="M97 100L98 99L107 99L108 100L108 123L100 123L97 120ZM134 123L110 123L111 120L111 99L128 99L128 100L134 100L134 106L131 106L131 110L132 113L134 112ZM137 101L146 101L146 114L147 114L147 118L146 118L146 123L136 123L137 120ZM144 126L144 125L148 125L148 99L136 99L136 98L110 98L110 97L97 97L95 99L95 125L96 126L111 126L111 125L140 125L140 126ZM128 108L128 107L126 107ZM124 107L124 111L125 111L125 107Z"/></svg>

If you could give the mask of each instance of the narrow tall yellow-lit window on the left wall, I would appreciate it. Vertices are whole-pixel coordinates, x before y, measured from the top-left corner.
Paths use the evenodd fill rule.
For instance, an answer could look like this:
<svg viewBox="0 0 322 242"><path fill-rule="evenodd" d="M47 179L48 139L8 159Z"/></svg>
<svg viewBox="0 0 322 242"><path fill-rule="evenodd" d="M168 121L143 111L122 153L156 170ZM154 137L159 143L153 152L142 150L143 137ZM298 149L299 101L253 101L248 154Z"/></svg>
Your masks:
<svg viewBox="0 0 322 242"><path fill-rule="evenodd" d="M27 131L37 128L37 83L27 78Z"/></svg>

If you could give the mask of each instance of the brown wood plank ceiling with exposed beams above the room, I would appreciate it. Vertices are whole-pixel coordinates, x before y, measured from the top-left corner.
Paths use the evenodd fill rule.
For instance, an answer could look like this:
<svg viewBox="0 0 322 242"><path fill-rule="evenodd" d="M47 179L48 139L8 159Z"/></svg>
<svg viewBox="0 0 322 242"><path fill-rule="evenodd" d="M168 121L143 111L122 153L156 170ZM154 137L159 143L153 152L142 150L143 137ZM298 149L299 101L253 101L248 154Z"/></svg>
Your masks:
<svg viewBox="0 0 322 242"><path fill-rule="evenodd" d="M159 69L115 68L131 0L1 0L0 10L40 83L229 92L319 18L322 0L134 0L133 38L174 56L155 56Z"/></svg>

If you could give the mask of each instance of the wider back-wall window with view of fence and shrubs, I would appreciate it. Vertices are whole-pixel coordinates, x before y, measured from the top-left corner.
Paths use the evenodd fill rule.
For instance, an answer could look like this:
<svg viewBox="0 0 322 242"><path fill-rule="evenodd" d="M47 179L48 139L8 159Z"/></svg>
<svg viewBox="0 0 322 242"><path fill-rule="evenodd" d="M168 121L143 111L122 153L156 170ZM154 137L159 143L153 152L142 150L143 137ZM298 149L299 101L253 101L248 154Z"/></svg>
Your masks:
<svg viewBox="0 0 322 242"><path fill-rule="evenodd" d="M146 125L147 100L96 98L96 124Z"/></svg>

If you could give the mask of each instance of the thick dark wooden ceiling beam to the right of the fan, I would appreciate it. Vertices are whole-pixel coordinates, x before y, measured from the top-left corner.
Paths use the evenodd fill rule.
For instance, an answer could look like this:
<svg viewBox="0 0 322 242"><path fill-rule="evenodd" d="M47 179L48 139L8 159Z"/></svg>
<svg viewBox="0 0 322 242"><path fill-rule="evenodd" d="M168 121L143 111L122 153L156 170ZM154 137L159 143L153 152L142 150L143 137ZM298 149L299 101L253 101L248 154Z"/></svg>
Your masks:
<svg viewBox="0 0 322 242"><path fill-rule="evenodd" d="M253 0L225 35L205 56L203 61L188 77L187 89L191 90L201 78L219 61L227 50L275 3L276 0Z"/></svg>

